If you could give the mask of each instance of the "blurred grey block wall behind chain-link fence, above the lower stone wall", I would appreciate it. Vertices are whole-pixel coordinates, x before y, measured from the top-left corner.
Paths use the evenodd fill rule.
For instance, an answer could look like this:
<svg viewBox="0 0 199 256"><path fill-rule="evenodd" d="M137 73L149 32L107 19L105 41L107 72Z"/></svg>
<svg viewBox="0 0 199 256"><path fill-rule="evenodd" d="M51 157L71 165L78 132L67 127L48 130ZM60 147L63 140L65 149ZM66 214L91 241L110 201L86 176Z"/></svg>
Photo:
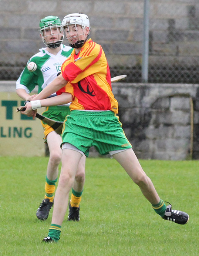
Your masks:
<svg viewBox="0 0 199 256"><path fill-rule="evenodd" d="M145 2L148 82L197 83L198 0L0 0L0 80L16 79L28 58L43 47L40 19L82 12L90 18L91 38L107 54L112 76L127 74L126 81L141 82Z"/></svg>

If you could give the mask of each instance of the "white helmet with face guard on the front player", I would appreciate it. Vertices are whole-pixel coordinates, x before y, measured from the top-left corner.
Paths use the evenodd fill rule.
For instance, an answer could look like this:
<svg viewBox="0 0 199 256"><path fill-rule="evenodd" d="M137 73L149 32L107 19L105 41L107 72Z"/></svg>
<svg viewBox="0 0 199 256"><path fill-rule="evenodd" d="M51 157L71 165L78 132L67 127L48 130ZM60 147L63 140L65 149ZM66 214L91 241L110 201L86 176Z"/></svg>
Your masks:
<svg viewBox="0 0 199 256"><path fill-rule="evenodd" d="M74 37L78 38L76 43L69 43L69 39L74 38L73 36L70 35L69 25L75 25L76 31L77 31L77 25L80 25L81 28L82 28L82 33L78 34L78 32L77 32L77 35L74 36ZM69 31L69 36L66 36L66 39L67 39L70 47L73 47L73 48L76 48L76 49L80 48L87 41L89 33L88 33L87 36L84 36L83 40L79 40L79 36L84 35L84 28L88 27L89 32L90 32L90 22L89 22L89 19L88 19L87 15L80 14L80 13L69 14L69 15L64 17L61 26L64 29L68 29L68 31Z"/></svg>

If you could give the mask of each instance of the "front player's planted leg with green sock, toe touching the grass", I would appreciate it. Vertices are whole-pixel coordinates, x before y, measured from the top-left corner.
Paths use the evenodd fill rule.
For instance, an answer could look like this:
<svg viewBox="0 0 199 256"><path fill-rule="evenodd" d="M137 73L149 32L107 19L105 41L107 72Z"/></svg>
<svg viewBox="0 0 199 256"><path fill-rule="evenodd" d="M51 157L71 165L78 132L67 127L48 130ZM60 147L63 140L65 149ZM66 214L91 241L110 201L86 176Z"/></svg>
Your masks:
<svg viewBox="0 0 199 256"><path fill-rule="evenodd" d="M46 242L48 242L50 238L54 241L59 240L61 225L68 206L69 191L74 184L77 167L81 157L82 154L78 151L71 149L62 150L61 174L54 197L52 224L49 229L48 237L44 239Z"/></svg>

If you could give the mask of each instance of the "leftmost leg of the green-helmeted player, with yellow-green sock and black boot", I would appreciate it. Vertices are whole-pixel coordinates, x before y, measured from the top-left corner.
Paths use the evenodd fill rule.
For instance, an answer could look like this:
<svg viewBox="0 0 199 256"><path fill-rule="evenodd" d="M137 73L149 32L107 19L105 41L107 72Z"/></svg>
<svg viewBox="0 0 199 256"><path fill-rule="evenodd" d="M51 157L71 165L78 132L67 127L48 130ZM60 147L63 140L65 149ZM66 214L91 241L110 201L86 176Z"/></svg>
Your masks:
<svg viewBox="0 0 199 256"><path fill-rule="evenodd" d="M61 136L56 132L51 131L47 134L46 140L49 147L50 157L46 173L45 196L36 212L36 216L41 220L46 220L48 218L50 209L54 204L54 192L58 176L58 166L61 161Z"/></svg>

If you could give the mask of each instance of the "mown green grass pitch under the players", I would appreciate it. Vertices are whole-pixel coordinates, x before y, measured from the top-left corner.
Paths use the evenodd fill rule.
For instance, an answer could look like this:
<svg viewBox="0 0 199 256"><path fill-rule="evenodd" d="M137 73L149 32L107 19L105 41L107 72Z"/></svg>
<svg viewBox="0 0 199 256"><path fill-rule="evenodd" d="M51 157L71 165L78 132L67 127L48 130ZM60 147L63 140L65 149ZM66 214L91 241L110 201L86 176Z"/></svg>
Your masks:
<svg viewBox="0 0 199 256"><path fill-rule="evenodd" d="M186 225L162 220L114 159L88 158L80 222L62 225L44 244L46 221L35 215L44 196L48 158L0 157L0 255L197 256L199 161L140 160L158 194L190 215Z"/></svg>

